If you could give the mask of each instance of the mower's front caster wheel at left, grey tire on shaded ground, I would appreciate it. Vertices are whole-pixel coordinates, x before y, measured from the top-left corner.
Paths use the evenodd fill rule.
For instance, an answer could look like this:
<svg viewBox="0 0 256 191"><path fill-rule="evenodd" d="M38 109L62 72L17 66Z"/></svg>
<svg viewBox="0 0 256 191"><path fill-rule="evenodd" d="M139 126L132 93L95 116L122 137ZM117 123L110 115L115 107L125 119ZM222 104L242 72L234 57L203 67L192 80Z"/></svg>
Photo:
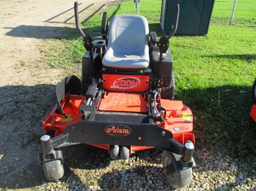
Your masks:
<svg viewBox="0 0 256 191"><path fill-rule="evenodd" d="M60 159L43 163L44 173L48 180L57 180L64 174L63 164Z"/></svg>

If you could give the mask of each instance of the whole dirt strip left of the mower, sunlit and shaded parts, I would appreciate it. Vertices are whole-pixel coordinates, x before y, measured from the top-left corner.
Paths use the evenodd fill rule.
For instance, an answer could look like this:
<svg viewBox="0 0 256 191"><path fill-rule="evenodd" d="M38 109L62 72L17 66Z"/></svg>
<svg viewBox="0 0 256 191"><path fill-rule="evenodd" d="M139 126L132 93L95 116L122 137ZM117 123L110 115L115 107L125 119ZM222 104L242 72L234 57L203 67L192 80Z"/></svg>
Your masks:
<svg viewBox="0 0 256 191"><path fill-rule="evenodd" d="M81 0L81 20L113 1ZM0 190L27 190L46 181L36 162L41 123L63 72L46 69L41 45L75 27L74 1L1 0L0 7Z"/></svg>

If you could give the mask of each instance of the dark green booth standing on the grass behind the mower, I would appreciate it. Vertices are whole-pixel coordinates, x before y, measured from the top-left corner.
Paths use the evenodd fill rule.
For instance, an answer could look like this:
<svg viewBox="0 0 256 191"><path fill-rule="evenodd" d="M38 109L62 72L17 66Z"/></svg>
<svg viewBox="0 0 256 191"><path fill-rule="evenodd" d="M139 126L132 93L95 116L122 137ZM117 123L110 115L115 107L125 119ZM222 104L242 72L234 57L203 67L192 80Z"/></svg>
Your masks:
<svg viewBox="0 0 256 191"><path fill-rule="evenodd" d="M173 28L175 4L180 5L178 28L175 34L207 36L215 0L162 0L161 27L164 34Z"/></svg>

